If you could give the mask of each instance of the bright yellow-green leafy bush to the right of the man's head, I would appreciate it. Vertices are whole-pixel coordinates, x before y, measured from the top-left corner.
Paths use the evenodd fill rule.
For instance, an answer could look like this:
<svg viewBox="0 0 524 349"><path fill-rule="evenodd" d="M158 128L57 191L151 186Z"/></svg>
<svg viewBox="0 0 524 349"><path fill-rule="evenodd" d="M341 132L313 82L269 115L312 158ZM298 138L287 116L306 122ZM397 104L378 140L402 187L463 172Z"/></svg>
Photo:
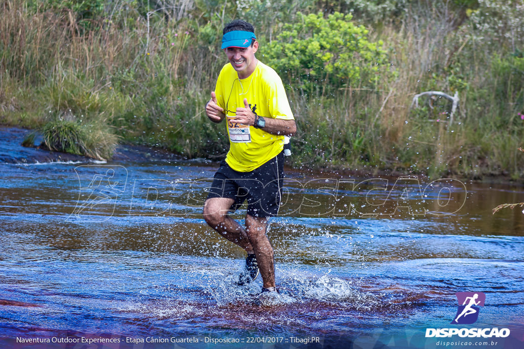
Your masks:
<svg viewBox="0 0 524 349"><path fill-rule="evenodd" d="M343 87L372 88L388 72L383 42L371 42L368 30L351 15L298 15L275 41L262 46L263 60L283 80L306 94L333 95ZM379 73L382 75L379 77Z"/></svg>

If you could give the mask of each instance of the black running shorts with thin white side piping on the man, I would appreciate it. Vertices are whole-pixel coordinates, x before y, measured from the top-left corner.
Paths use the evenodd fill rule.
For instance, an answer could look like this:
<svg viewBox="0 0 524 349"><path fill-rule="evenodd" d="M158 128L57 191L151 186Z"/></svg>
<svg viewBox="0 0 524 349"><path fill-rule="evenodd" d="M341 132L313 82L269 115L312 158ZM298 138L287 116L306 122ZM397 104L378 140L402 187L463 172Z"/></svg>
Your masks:
<svg viewBox="0 0 524 349"><path fill-rule="evenodd" d="M283 153L280 153L251 172L238 172L223 160L208 188L208 199L234 199L232 212L247 200L248 215L274 217L282 196L283 163Z"/></svg>

